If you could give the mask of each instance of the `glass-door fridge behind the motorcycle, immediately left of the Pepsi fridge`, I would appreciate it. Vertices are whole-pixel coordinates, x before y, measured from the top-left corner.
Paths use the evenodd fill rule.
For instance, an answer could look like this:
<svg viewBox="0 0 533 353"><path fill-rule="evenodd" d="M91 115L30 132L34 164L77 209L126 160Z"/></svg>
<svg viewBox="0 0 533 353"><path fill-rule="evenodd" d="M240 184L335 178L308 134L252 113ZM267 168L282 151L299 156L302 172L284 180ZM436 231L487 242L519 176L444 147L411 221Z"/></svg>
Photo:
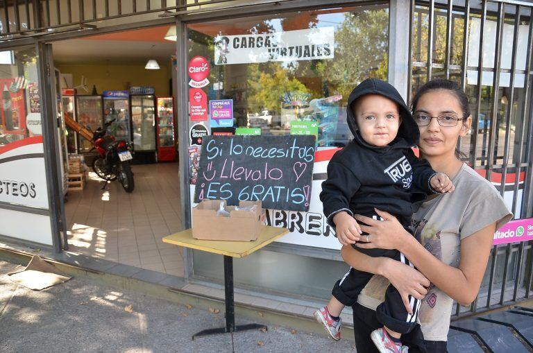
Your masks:
<svg viewBox="0 0 533 353"><path fill-rule="evenodd" d="M103 126L101 96L76 96L76 112L78 123L92 131ZM78 152L87 153L91 148L91 142L78 135Z"/></svg>

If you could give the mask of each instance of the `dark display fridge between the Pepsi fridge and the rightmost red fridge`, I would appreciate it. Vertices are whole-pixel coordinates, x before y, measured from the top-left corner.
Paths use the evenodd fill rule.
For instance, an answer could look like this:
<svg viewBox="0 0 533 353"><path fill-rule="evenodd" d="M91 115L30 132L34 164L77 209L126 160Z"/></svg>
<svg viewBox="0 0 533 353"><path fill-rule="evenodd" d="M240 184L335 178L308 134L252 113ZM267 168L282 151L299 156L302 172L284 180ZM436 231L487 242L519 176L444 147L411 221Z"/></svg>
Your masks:
<svg viewBox="0 0 533 353"><path fill-rule="evenodd" d="M135 162L155 163L155 96L131 95L130 105Z"/></svg>

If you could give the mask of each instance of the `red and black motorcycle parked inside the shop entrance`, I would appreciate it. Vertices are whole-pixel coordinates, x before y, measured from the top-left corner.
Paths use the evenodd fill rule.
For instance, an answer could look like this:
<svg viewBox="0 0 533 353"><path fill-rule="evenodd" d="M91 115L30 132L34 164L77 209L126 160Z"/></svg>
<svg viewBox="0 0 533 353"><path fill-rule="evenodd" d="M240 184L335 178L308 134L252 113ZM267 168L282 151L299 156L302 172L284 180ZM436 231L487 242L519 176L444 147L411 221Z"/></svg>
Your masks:
<svg viewBox="0 0 533 353"><path fill-rule="evenodd" d="M92 162L94 173L103 180L119 180L126 192L130 193L135 188L130 160L133 159L133 143L124 140L115 141L113 135L108 134L108 126L116 119L106 122L103 128L93 132L92 140L98 157Z"/></svg>

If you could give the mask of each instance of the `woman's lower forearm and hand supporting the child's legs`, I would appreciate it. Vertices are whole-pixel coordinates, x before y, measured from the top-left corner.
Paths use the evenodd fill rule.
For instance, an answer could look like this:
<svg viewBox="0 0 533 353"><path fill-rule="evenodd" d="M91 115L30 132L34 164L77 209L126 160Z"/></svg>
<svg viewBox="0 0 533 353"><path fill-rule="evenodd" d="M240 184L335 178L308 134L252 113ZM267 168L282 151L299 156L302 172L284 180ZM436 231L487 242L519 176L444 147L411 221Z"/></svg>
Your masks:
<svg viewBox="0 0 533 353"><path fill-rule="evenodd" d="M409 295L422 300L428 293L425 287L430 286L430 280L418 270L406 264L389 259L388 257L370 257L359 252L351 246L343 246L341 256L346 264L356 270L382 275L398 290L402 297L405 309L410 313Z"/></svg>

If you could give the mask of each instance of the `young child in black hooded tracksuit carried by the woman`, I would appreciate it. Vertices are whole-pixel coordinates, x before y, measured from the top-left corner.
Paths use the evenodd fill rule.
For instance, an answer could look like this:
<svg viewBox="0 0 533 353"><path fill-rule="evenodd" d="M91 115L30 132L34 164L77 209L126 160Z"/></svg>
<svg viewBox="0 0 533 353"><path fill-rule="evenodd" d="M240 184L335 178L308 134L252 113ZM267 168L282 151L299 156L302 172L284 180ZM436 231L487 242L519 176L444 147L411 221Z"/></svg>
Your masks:
<svg viewBox="0 0 533 353"><path fill-rule="evenodd" d="M374 208L393 214L409 230L415 204L425 200L428 194L452 192L450 178L415 157L411 148L418 142L418 126L403 98L389 83L373 78L364 80L353 89L346 110L354 138L332 157L328 179L323 182L320 194L328 223L335 227L337 238L344 245L347 243L341 239L349 239L351 234L366 235L363 241L370 241L353 215L382 219ZM397 250L352 246L366 255L390 257L412 266ZM372 276L350 268L335 284L328 305L314 313L335 340L341 338L342 309L355 304L357 295ZM402 346L400 337L416 325L420 306L416 298L409 297L409 300L411 313L405 309L394 286L387 289L385 302L377 309L378 320L384 327L371 334L380 352L405 352L407 347Z"/></svg>

